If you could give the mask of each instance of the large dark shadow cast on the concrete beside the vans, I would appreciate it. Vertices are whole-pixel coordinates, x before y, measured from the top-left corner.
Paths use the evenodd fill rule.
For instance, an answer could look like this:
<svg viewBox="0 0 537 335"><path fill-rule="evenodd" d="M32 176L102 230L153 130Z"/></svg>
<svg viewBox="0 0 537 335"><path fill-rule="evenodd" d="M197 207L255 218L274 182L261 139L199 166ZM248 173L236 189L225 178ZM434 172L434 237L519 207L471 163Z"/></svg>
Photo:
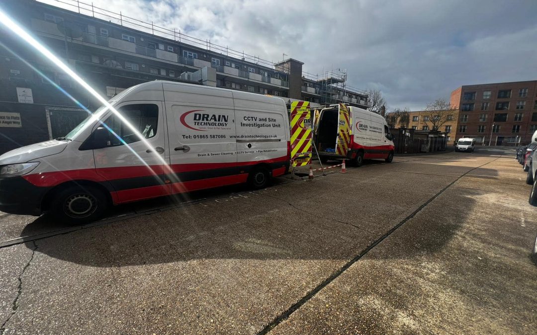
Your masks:
<svg viewBox="0 0 537 335"><path fill-rule="evenodd" d="M301 191L313 196L313 183L304 182ZM224 190L220 190L224 191ZM38 250L50 257L94 267L130 266L181 262L192 259L341 259L349 260L384 235L401 220L389 213L400 204L393 199L405 196L405 189L393 189L389 203L378 206L388 213L375 217L375 209L350 217L349 224L332 220L330 206L302 202L289 205L268 195L246 192L229 194L208 202L162 212L151 212L123 221L37 241ZM397 194L400 192L400 194ZM472 193L474 192L474 193ZM282 197L281 193L273 193ZM475 206L470 196L481 192L465 190L450 203L465 204L456 210L446 206L448 221L418 227L415 233L397 237L408 245L404 254L389 258L413 257L441 250L461 228ZM460 198L460 199L459 199ZM309 205L309 207L308 207ZM350 206L359 205L349 204ZM315 216L303 211L314 211ZM370 213L371 212L371 213ZM386 220L386 218L390 218ZM28 225L45 225L40 218ZM408 223L408 222L407 222ZM367 230L358 229L365 227ZM23 234L26 232L23 232ZM26 243L34 249L33 242Z"/></svg>

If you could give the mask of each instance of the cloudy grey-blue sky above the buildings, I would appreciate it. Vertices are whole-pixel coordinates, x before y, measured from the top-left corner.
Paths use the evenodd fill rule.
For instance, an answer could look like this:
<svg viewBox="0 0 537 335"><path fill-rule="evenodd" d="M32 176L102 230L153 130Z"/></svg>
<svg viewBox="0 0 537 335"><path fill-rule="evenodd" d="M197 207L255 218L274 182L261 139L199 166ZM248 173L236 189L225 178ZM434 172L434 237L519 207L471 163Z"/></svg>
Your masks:
<svg viewBox="0 0 537 335"><path fill-rule="evenodd" d="M61 6L54 0L40 0ZM461 85L537 79L537 1L81 0L199 39L378 88L422 109Z"/></svg>

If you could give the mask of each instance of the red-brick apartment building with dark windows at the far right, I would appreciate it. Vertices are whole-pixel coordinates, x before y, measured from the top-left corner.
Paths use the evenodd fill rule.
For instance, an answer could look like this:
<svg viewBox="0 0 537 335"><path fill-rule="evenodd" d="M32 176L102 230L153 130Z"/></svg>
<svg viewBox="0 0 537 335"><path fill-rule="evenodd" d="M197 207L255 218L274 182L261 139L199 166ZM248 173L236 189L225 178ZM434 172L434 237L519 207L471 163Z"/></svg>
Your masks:
<svg viewBox="0 0 537 335"><path fill-rule="evenodd" d="M537 130L537 80L465 85L451 93L459 109L456 138L477 145L518 145Z"/></svg>

